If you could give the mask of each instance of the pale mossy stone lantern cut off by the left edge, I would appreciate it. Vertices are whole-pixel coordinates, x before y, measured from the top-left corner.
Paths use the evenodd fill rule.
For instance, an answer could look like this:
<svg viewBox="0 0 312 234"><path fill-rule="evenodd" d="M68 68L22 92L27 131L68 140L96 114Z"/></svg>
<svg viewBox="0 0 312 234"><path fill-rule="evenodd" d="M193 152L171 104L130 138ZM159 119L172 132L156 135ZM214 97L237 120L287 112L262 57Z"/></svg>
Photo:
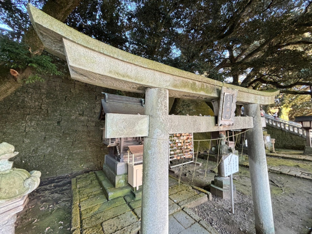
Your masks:
<svg viewBox="0 0 312 234"><path fill-rule="evenodd" d="M17 213L28 201L28 194L40 183L41 173L12 168L8 159L16 156L14 146L6 142L0 144L0 234L14 234Z"/></svg>

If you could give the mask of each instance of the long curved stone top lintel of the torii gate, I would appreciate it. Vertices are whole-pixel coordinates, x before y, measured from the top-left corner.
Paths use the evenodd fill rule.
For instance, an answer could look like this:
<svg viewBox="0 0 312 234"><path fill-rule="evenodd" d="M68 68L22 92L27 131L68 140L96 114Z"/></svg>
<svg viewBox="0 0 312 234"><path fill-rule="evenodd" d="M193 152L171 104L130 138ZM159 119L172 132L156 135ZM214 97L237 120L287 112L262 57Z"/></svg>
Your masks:
<svg viewBox="0 0 312 234"><path fill-rule="evenodd" d="M67 60L73 79L137 93L144 93L146 88L166 88L169 97L203 100L218 99L225 86L238 90L237 104L271 104L279 93L222 83L141 58L88 37L31 4L27 9L45 49Z"/></svg>

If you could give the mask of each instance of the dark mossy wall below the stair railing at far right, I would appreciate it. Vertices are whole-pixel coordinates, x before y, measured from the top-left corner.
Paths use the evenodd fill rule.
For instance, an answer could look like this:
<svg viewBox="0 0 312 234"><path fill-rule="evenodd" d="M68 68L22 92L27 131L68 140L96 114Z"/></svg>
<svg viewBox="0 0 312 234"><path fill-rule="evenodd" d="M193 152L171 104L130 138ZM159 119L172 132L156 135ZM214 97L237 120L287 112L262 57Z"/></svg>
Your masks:
<svg viewBox="0 0 312 234"><path fill-rule="evenodd" d="M300 136L296 136L285 129L274 128L267 124L265 127L271 138L275 139L275 148L280 149L292 149L292 150L304 150L306 145L306 139Z"/></svg>

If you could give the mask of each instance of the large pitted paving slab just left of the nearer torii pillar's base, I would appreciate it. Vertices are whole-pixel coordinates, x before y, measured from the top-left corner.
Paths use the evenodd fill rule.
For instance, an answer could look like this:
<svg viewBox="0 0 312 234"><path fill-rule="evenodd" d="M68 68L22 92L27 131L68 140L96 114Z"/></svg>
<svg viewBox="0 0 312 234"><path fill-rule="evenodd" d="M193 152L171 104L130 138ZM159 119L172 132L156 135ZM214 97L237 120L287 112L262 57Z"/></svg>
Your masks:
<svg viewBox="0 0 312 234"><path fill-rule="evenodd" d="M138 221L137 216L132 211L129 211L103 222L102 228L105 234L112 234L136 221Z"/></svg>

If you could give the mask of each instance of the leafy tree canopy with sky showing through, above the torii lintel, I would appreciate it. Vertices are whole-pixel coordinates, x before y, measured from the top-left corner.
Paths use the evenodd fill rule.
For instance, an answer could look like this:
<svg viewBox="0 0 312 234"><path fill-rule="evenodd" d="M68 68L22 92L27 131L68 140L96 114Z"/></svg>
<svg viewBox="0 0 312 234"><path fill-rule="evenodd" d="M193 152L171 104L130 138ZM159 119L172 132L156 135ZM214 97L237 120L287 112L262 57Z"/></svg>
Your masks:
<svg viewBox="0 0 312 234"><path fill-rule="evenodd" d="M15 32L25 31L29 25L26 2L0 1L0 22ZM46 11L48 2L31 0ZM311 3L80 0L63 20L117 48L209 78L253 89L311 95ZM15 37L22 38L23 33Z"/></svg>

